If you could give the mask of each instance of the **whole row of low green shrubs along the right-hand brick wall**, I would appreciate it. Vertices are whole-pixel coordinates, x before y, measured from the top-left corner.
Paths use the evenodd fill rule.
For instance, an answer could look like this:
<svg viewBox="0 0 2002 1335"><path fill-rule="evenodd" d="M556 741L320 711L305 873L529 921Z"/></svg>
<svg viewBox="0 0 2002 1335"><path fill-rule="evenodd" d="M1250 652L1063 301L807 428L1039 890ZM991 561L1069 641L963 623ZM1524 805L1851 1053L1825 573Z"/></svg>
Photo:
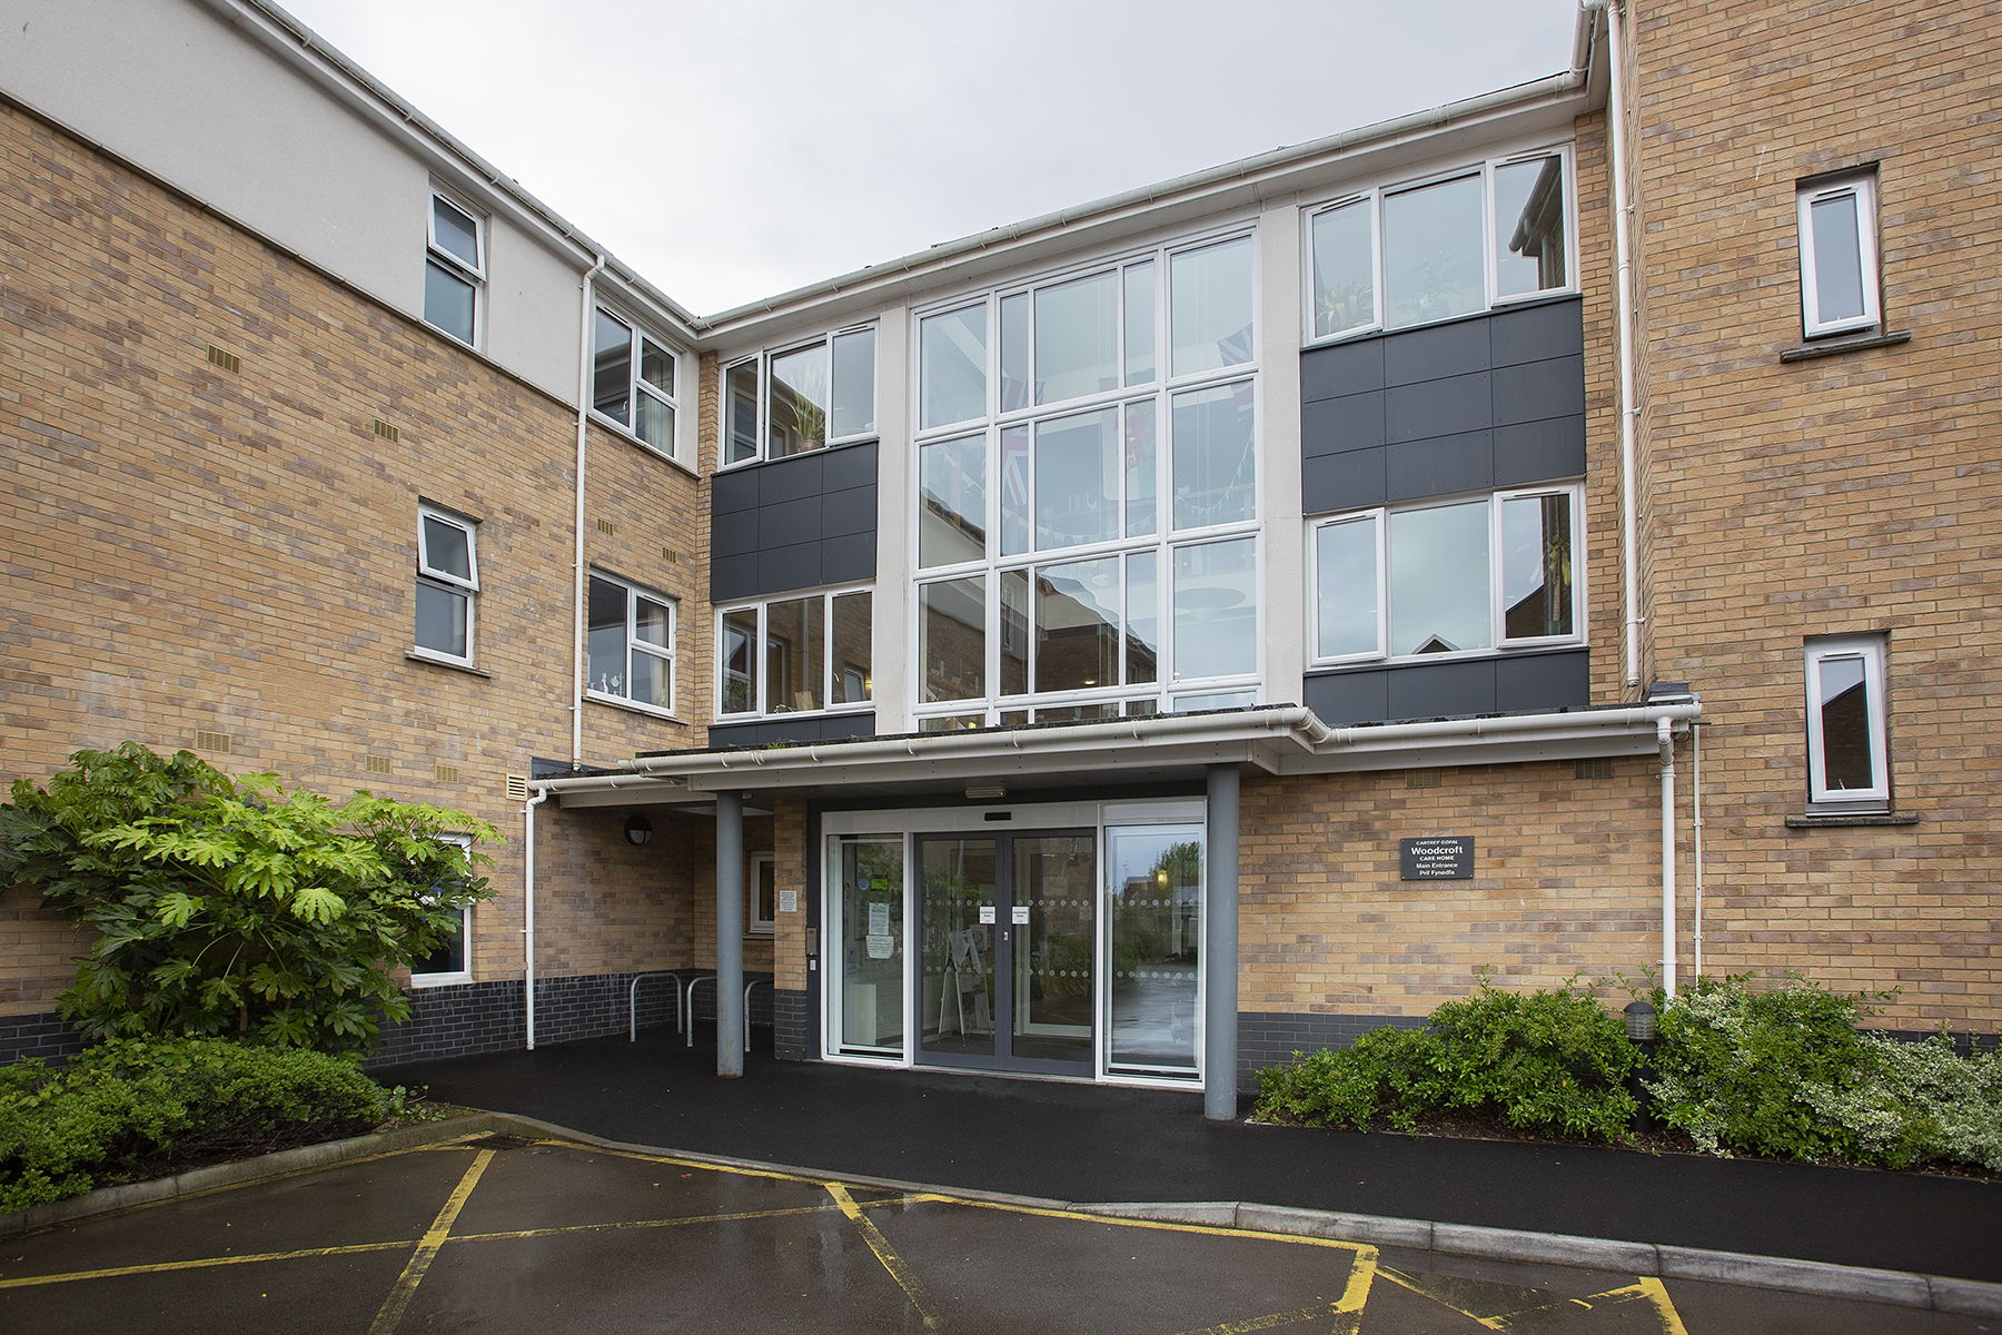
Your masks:
<svg viewBox="0 0 2002 1335"><path fill-rule="evenodd" d="M1884 999L1798 977L1768 991L1706 977L1674 1001L1656 991L1654 1069L1642 1073L1654 1115L1716 1155L2002 1173L2002 1053L1962 1057L1946 1035L1906 1043L1858 1029ZM1423 1029L1375 1029L1267 1067L1257 1115L1415 1131L1425 1117L1485 1113L1522 1131L1618 1143L1632 1139L1628 1085L1640 1063L1622 1017L1576 979L1506 993L1483 977Z"/></svg>

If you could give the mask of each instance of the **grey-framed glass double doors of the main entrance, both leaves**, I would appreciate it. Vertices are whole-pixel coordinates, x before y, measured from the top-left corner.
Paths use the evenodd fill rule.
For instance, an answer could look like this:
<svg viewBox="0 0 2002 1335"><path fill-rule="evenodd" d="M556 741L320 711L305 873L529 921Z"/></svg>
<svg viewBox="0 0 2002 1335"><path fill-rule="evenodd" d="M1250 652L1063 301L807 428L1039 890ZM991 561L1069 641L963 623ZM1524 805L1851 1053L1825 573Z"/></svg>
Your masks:
<svg viewBox="0 0 2002 1335"><path fill-rule="evenodd" d="M921 835L919 1061L1091 1073L1095 837Z"/></svg>

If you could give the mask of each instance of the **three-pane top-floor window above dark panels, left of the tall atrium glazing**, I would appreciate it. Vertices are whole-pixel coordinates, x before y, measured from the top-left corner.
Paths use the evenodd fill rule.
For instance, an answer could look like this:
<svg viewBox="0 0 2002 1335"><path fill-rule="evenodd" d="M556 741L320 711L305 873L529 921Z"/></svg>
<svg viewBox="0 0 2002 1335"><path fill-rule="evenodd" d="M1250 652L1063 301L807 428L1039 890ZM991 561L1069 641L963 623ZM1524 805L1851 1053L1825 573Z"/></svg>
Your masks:
<svg viewBox="0 0 2002 1335"><path fill-rule="evenodd" d="M723 462L787 458L875 436L875 328L763 352L723 374Z"/></svg>

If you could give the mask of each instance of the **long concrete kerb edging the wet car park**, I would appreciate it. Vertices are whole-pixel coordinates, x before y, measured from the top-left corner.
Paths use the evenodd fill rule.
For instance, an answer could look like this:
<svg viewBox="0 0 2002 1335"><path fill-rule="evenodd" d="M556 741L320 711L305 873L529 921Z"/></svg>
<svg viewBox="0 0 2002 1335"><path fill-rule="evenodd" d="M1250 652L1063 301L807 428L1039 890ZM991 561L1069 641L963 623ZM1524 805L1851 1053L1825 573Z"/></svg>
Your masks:
<svg viewBox="0 0 2002 1335"><path fill-rule="evenodd" d="M989 1205L1061 1209L1079 1215L1103 1215L1107 1219L1189 1223L1211 1229L1249 1229L1259 1233L1285 1233L1293 1237L1325 1237L1345 1243L1371 1243L1377 1247L1409 1247L1413 1251L1483 1257L1489 1261L1576 1265L1628 1275L1652 1275L1658 1279L1690 1279L1748 1289L1776 1289L1782 1293L1814 1293L1860 1303L1946 1311L1966 1317L2002 1317L2002 1285L1974 1279L1910 1275L1906 1271L1876 1271L1854 1265L1828 1265L1822 1261L1790 1261L1784 1257L1754 1257L1736 1251L1704 1251L1698 1247L1622 1243L1604 1237L1568 1237L1564 1233L1528 1233L1522 1229L1483 1229L1461 1223L1433 1223L1429 1219L1395 1219L1385 1215L1349 1215L1339 1211L1295 1209L1283 1205L1253 1205L1247 1201L1103 1203L1021 1197L1001 1191L935 1187L891 1177L827 1173L825 1169L809 1169L787 1163L731 1159L725 1155L663 1149L659 1145L609 1141L587 1131L573 1131L569 1127L559 1127L535 1117L517 1117L513 1113L480 1113L476 1117L456 1117L452 1121L428 1123L420 1127L398 1127L396 1131L360 1135L346 1141L326 1141L324 1145L286 1149L258 1159L218 1163L214 1167L192 1169L174 1177L160 1177L150 1183L104 1187L70 1201L56 1201L54 1205L36 1205L34 1209L0 1215L0 1237L30 1233L60 1223L74 1223L96 1215L110 1215L136 1205L152 1205L156 1201L200 1195L220 1187L288 1177L292 1173L324 1169L354 1159L368 1159L422 1145L450 1143L480 1133L571 1141L575 1145L589 1145L595 1149L683 1159L719 1169L783 1173L787 1177L801 1177L809 1181L837 1179L857 1187L877 1187L909 1195L939 1195Z"/></svg>

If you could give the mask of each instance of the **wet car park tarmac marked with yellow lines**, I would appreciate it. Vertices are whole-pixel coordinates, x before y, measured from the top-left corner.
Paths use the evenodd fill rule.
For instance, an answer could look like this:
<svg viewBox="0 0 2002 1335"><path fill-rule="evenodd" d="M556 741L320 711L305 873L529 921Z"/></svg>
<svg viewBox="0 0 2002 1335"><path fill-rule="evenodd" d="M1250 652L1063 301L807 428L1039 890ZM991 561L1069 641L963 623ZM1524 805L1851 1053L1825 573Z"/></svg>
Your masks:
<svg viewBox="0 0 2002 1335"><path fill-rule="evenodd" d="M1662 1331L1994 1323L480 1137L0 1243L0 1329Z"/></svg>

